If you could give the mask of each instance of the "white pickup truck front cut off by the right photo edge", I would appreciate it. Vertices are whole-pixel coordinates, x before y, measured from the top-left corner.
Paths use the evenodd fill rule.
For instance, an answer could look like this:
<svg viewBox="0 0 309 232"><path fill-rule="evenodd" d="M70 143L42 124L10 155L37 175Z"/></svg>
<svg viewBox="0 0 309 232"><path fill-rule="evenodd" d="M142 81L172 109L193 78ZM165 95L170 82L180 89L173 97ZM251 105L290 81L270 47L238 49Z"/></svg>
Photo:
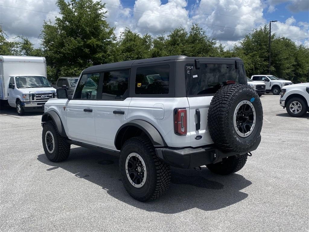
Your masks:
<svg viewBox="0 0 309 232"><path fill-rule="evenodd" d="M293 84L282 89L280 105L293 117L303 117L309 111L309 83Z"/></svg>

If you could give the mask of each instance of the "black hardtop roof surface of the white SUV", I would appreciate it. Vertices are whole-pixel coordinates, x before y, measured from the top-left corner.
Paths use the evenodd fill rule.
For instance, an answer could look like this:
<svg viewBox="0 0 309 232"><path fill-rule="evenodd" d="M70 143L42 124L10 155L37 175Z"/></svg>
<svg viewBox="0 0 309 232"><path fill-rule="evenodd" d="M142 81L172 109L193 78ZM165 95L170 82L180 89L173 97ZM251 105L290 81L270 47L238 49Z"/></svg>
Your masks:
<svg viewBox="0 0 309 232"><path fill-rule="evenodd" d="M199 59L199 60L241 60L238 57L232 58L222 58L222 57L188 57L188 56L163 56L163 57L156 57L156 58L147 58L147 59L140 59L140 60L128 60L128 61L121 61L115 63L108 63L108 64L100 64L86 68L83 72L93 72L93 71L102 71L102 70L112 70L112 69L129 69L133 64L141 64L141 63L150 63L150 62L159 62L159 61L167 61L167 60L192 60L192 59Z"/></svg>

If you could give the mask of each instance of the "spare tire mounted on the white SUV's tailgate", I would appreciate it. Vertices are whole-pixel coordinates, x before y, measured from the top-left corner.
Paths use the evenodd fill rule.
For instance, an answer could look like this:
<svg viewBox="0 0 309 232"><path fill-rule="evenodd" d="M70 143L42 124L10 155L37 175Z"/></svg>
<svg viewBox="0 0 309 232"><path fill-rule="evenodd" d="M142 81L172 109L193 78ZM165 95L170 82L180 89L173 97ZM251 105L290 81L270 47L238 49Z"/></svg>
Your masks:
<svg viewBox="0 0 309 232"><path fill-rule="evenodd" d="M208 127L214 144L220 150L247 152L258 140L262 124L260 98L247 85L223 86L211 100Z"/></svg>

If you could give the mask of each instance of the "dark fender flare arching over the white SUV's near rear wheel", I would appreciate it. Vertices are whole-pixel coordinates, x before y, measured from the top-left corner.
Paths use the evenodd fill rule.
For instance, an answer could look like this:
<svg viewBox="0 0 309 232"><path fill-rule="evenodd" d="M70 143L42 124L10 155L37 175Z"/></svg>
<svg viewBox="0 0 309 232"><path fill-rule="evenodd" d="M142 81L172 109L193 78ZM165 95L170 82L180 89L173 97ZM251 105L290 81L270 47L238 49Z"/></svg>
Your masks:
<svg viewBox="0 0 309 232"><path fill-rule="evenodd" d="M130 122L123 124L118 129L116 136L115 136L115 141L114 141L115 147L118 150L120 150L120 144L122 140L120 139L119 136L121 136L122 138L122 135L125 134L125 131L127 128L129 128L129 126L138 127L139 129L141 129L149 137L154 147L167 147L167 144L165 143L162 135L153 125L151 125L149 122L146 122L144 120L135 119L135 120L132 120Z"/></svg>

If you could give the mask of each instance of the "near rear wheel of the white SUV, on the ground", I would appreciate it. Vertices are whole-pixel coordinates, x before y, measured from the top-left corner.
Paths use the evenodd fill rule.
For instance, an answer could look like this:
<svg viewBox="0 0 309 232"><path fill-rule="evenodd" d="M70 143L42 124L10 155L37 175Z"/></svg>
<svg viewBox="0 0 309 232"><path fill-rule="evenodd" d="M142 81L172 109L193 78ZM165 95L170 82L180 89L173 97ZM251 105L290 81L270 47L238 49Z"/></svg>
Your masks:
<svg viewBox="0 0 309 232"><path fill-rule="evenodd" d="M119 169L126 191L138 201L157 199L170 185L170 166L159 160L146 136L131 138L123 144Z"/></svg>

